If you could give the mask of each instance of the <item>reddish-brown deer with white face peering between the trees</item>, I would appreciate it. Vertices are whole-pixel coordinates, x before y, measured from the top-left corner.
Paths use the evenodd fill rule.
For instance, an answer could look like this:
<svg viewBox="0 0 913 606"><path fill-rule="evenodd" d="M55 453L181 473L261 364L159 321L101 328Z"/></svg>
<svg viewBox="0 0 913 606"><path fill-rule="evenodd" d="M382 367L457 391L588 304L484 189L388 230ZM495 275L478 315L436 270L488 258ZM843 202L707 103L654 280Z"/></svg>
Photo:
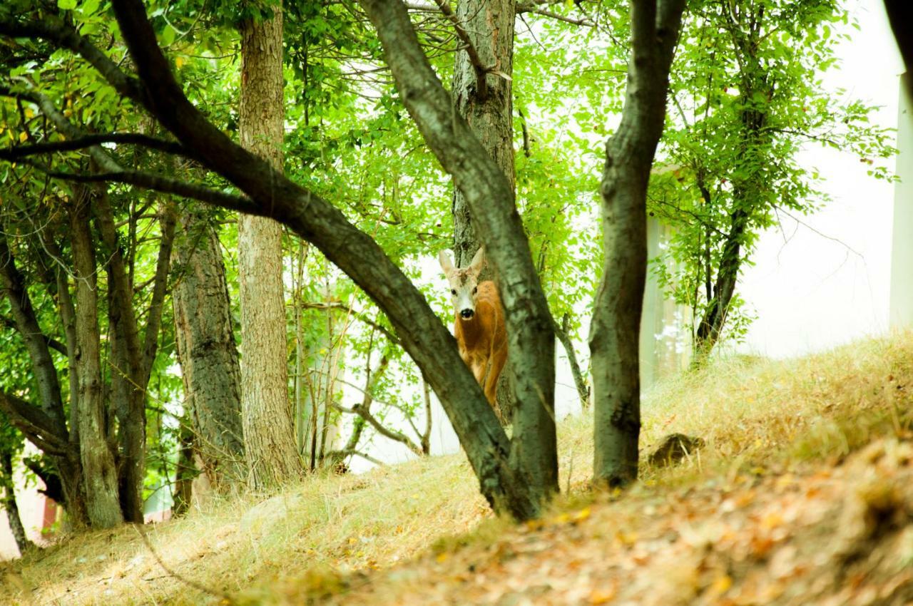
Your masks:
<svg viewBox="0 0 913 606"><path fill-rule="evenodd" d="M498 377L508 359L508 333L498 287L491 280L478 281L485 264L485 249L479 248L469 265L459 269L446 251L441 251L438 260L450 282L454 336L460 358L466 362L488 403L501 419L497 402Z"/></svg>

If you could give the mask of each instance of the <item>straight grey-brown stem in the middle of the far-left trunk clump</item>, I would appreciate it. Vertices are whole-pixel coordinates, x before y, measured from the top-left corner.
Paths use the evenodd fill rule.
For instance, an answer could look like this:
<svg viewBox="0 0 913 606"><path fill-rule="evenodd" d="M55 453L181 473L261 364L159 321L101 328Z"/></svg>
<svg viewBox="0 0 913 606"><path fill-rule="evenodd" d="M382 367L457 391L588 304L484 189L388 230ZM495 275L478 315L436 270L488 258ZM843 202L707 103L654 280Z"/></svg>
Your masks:
<svg viewBox="0 0 913 606"><path fill-rule="evenodd" d="M70 238L76 277L77 373L79 375L79 455L86 509L94 528L123 522L118 499L117 470L108 446L108 428L101 394L98 280L95 250L89 231L89 193L74 196Z"/></svg>

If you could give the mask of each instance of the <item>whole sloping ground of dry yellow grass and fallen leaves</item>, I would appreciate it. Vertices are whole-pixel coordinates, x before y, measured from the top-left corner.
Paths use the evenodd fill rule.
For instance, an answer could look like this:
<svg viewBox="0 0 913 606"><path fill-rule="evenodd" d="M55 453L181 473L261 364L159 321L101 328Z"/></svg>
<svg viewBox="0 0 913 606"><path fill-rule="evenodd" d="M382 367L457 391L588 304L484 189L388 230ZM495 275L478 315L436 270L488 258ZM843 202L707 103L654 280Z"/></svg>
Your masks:
<svg viewBox="0 0 913 606"><path fill-rule="evenodd" d="M722 360L646 394L645 452L706 445L622 494L589 489L584 414L535 522L431 457L61 540L6 566L0 603L911 604L911 392L908 333Z"/></svg>

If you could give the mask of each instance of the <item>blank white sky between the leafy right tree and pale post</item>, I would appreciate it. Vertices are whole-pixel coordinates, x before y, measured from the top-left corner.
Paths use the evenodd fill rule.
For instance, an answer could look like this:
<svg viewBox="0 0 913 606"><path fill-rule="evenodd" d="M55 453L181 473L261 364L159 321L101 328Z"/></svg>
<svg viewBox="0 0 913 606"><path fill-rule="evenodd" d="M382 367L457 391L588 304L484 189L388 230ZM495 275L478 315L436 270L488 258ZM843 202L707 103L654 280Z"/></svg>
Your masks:
<svg viewBox="0 0 913 606"><path fill-rule="evenodd" d="M880 0L854 4L860 30L825 83L882 106L878 122L895 128L903 63ZM783 217L782 230L761 238L740 281L757 314L741 350L799 355L887 329L894 186L867 176L852 154L814 150L803 163L821 171L834 200L805 225Z"/></svg>

